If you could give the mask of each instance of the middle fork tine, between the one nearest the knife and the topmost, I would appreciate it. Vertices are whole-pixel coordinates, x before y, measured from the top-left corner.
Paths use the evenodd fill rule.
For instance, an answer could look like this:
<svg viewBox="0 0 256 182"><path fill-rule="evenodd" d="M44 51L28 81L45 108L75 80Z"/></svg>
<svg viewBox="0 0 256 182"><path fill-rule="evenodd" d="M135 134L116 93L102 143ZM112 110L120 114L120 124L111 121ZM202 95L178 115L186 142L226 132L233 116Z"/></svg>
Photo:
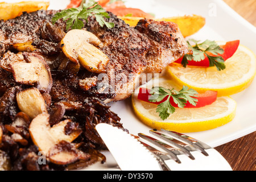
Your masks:
<svg viewBox="0 0 256 182"><path fill-rule="evenodd" d="M150 130L150 133L152 135L155 135L156 137L159 137L159 138L163 139L164 141L170 143L172 146L175 146L176 148L179 148L181 151L184 152L185 155L187 155L192 160L195 160L194 156L187 150L187 148L184 147L185 144L183 142L180 142L179 140L176 140L174 138L171 138L167 135L164 135L164 134L159 133L159 132L154 131L154 130Z"/></svg>

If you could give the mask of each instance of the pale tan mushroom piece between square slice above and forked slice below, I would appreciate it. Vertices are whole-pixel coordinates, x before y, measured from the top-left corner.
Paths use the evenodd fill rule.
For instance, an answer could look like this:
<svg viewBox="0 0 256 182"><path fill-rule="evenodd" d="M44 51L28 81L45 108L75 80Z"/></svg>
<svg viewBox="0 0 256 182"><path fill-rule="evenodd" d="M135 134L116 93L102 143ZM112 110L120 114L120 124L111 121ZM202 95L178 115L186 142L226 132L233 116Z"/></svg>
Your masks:
<svg viewBox="0 0 256 182"><path fill-rule="evenodd" d="M42 113L47 113L46 102L39 89L29 88L16 94L19 109L31 119Z"/></svg>

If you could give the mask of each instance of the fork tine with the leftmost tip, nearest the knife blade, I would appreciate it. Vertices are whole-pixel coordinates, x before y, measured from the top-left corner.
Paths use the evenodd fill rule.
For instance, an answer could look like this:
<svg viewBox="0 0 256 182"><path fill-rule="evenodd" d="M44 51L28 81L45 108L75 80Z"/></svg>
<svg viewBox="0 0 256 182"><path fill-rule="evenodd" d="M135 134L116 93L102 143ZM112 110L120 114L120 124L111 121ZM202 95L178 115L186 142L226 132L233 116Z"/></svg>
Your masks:
<svg viewBox="0 0 256 182"><path fill-rule="evenodd" d="M177 158L177 155L181 155L181 153L177 150L175 150L175 148L168 146L168 144L163 143L155 138L149 137L148 135L139 133L138 134L139 137L143 138L144 140L147 140L148 142L155 144L155 146L158 146L159 148L161 148L162 150L164 150L165 152L167 152L168 155L170 155L170 157L175 160L177 163L181 163L179 158ZM173 151L169 150L168 148L172 148Z"/></svg>

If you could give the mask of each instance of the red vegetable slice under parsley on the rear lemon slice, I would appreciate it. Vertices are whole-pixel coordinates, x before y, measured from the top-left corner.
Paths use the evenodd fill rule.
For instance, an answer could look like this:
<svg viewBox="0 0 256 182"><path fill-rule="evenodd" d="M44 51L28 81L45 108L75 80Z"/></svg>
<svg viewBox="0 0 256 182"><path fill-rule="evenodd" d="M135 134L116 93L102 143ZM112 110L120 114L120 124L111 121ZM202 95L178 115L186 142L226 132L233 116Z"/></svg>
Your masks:
<svg viewBox="0 0 256 182"><path fill-rule="evenodd" d="M240 40L234 40L231 42L227 42L225 45L221 45L220 47L224 49L224 53L222 55L217 55L223 57L224 61L229 59L234 55L234 53L237 51L238 46L240 45ZM209 53L210 56L214 56L211 53ZM183 60L184 56L181 56L178 60L175 61L175 63L181 64L181 61ZM205 56L204 60L201 61L188 61L188 65L191 66L197 66L197 67L209 67L209 60L207 56Z"/></svg>

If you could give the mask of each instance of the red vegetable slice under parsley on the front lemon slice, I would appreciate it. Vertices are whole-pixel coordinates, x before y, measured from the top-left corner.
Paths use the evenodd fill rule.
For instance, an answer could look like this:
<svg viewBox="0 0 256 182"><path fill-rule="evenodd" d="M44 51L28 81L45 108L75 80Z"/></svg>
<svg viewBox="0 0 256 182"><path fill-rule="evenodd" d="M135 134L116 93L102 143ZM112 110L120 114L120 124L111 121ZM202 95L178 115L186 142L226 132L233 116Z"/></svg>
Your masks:
<svg viewBox="0 0 256 182"><path fill-rule="evenodd" d="M151 104L159 105L159 104L163 103L164 101L166 101L167 98L168 98L168 97L164 98L161 102L150 102L150 101L148 101L150 96L151 96L150 89L146 89L146 88L140 88L139 89L138 100L141 100L141 101L144 101L144 102L148 102L148 103L151 103ZM217 92L212 91L212 90L208 90L205 93L200 93L197 96L198 97L195 97L198 100L196 106L193 106L192 104L190 104L188 102L185 105L184 108L204 107L204 106L212 104L213 102L215 102L217 100ZM170 99L170 103L171 103L172 106L178 107L177 104L175 104L174 100Z"/></svg>

